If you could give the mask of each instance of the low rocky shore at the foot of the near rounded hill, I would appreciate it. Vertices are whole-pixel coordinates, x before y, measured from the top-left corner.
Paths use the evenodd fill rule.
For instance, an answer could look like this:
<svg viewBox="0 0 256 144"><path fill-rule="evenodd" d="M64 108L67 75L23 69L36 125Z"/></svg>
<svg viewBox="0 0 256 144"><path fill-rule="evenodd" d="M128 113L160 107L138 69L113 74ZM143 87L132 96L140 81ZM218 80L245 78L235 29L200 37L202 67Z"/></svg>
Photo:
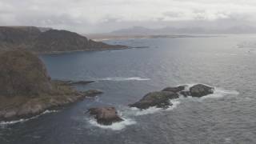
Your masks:
<svg viewBox="0 0 256 144"><path fill-rule="evenodd" d="M5 103L0 108L0 121L7 122L31 118L42 114L45 110L58 110L63 106L81 101L84 98L92 98L98 94L102 94L102 91L86 90L78 92L70 90L67 94L45 95L39 98L0 98L1 103Z"/></svg>

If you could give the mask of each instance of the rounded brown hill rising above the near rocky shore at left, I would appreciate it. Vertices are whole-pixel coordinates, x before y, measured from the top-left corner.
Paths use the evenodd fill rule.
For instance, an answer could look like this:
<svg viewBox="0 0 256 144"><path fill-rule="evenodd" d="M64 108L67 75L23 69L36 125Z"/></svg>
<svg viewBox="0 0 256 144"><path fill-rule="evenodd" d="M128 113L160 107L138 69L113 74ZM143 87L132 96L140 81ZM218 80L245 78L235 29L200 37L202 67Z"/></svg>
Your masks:
<svg viewBox="0 0 256 144"><path fill-rule="evenodd" d="M37 96L51 90L46 67L34 54L24 50L0 54L0 95Z"/></svg>

